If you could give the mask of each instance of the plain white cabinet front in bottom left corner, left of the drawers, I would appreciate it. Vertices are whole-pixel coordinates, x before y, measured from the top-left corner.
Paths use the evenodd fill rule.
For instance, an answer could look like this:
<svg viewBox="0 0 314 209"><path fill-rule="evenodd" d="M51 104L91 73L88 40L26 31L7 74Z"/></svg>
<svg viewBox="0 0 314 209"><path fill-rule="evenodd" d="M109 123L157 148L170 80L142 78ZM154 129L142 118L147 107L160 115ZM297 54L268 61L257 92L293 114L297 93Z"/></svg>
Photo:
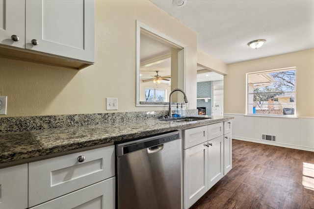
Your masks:
<svg viewBox="0 0 314 209"><path fill-rule="evenodd" d="M27 208L27 164L0 169L0 209Z"/></svg>

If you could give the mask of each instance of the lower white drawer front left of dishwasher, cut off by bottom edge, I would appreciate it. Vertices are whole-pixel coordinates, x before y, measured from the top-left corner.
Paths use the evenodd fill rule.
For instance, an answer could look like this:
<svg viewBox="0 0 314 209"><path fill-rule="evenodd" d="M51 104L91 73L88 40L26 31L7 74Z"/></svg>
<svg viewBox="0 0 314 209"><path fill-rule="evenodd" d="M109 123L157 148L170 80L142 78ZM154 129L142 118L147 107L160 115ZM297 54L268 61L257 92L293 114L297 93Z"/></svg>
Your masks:
<svg viewBox="0 0 314 209"><path fill-rule="evenodd" d="M35 206L31 209L114 209L115 177Z"/></svg>

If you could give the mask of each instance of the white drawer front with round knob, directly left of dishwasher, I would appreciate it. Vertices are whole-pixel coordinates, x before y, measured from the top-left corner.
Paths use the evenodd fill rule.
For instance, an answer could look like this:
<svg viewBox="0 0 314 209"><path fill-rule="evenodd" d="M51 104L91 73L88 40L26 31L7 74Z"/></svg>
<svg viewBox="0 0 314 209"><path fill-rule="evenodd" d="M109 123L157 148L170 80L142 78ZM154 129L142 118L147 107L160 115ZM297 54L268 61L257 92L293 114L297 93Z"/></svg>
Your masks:
<svg viewBox="0 0 314 209"><path fill-rule="evenodd" d="M83 162L78 157L84 156ZM28 164L28 207L114 176L114 146Z"/></svg>

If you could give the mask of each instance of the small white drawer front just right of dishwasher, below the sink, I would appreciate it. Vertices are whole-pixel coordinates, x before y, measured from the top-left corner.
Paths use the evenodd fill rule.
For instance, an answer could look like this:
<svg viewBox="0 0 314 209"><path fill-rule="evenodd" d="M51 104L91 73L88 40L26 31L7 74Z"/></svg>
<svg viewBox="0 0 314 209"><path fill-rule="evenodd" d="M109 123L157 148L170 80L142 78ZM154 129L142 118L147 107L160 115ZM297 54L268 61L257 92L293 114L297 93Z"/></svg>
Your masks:
<svg viewBox="0 0 314 209"><path fill-rule="evenodd" d="M207 126L200 126L196 128L184 130L184 144L183 148L195 146L208 140Z"/></svg>

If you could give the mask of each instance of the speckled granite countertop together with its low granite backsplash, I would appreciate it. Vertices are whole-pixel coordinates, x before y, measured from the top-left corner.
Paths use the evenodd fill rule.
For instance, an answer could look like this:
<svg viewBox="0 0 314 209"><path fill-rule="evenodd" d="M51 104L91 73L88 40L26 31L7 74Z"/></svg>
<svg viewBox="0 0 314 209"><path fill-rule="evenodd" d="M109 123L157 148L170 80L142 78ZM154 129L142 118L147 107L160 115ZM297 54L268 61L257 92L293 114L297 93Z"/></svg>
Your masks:
<svg viewBox="0 0 314 209"><path fill-rule="evenodd" d="M197 123L156 119L165 113L167 111L4 118L4 121L9 122L0 124L1 130L5 131L0 133L0 168L31 162L38 157L42 160L42 157L49 158L80 148L183 130L233 118L210 116L209 119L198 120ZM192 110L186 116L196 116L197 113L197 110Z"/></svg>

